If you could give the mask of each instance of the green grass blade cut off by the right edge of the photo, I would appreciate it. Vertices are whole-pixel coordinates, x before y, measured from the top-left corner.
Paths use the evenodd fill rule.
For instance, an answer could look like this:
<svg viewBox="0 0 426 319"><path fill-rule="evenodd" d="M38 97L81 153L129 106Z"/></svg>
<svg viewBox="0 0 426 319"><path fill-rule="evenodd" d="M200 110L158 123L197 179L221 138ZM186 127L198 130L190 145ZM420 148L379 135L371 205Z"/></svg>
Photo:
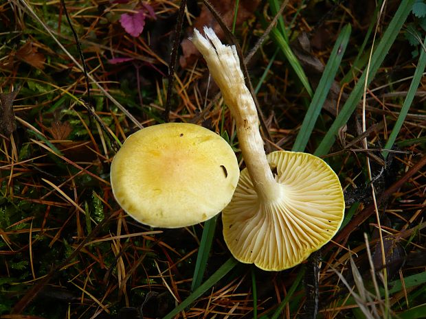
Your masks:
<svg viewBox="0 0 426 319"><path fill-rule="evenodd" d="M424 43L426 44L426 38ZM392 146L395 143L396 137L399 134L399 130L401 130L401 127L403 126L405 117L407 116L408 110L410 110L410 106L413 102L414 95L416 95L418 84L420 84L420 81L423 78L423 71L425 71L425 66L426 66L426 51L421 50L421 55L420 55L420 58L418 58L416 71L414 72L414 77L410 84L410 88L408 89L407 97L405 97L403 107L401 108L401 113L399 113L399 116L398 116L398 119L396 120L394 128L392 132L390 133L388 141L385 144L385 151L381 153L384 158L388 156L389 152L386 150L392 149Z"/></svg>

